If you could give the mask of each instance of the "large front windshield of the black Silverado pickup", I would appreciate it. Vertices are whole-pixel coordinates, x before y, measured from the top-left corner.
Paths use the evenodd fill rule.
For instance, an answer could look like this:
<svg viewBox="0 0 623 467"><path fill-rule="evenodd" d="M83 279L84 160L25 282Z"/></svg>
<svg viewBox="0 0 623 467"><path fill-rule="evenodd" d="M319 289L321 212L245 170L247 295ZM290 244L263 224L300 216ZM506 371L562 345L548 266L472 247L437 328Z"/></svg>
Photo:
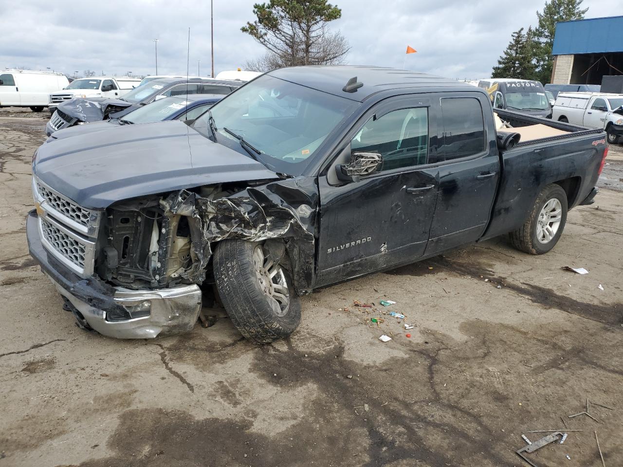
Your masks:
<svg viewBox="0 0 623 467"><path fill-rule="evenodd" d="M350 99L264 75L219 101L193 128L209 136L211 114L217 142L240 147L227 128L257 148L260 161L296 175L356 105Z"/></svg>

